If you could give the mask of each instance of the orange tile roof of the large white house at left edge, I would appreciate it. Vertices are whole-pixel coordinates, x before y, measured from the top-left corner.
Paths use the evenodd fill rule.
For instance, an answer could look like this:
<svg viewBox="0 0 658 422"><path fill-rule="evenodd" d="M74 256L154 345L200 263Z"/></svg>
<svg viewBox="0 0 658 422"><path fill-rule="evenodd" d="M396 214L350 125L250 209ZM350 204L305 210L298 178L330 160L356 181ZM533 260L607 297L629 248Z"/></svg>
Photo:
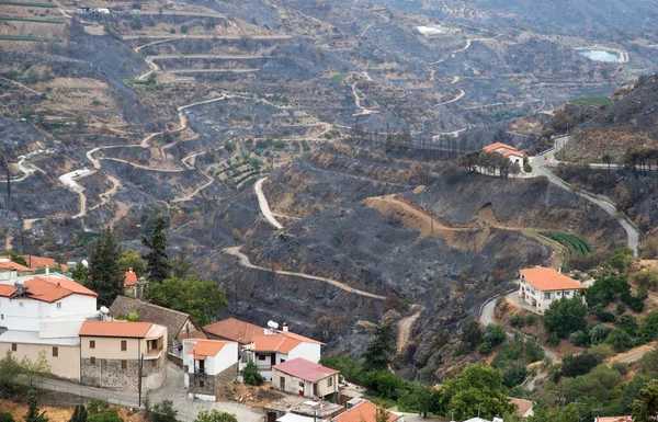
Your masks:
<svg viewBox="0 0 658 422"><path fill-rule="evenodd" d="M7 287L5 287L7 286ZM89 288L68 278L60 277L34 277L23 283L25 289L25 299L55 303L71 295L83 295L98 297L99 295ZM15 287L12 285L2 285L0 296L11 297Z"/></svg>

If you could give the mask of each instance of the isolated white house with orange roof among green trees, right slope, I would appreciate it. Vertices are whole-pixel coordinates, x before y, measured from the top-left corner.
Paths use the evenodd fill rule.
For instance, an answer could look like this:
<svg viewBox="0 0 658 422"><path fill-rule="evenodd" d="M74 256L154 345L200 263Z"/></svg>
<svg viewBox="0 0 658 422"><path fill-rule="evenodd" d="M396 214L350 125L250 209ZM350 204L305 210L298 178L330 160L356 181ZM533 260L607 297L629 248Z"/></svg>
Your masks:
<svg viewBox="0 0 658 422"><path fill-rule="evenodd" d="M554 269L535 266L520 273L519 297L538 313L544 313L554 300L563 297L579 298L586 303L581 293L587 287Z"/></svg>

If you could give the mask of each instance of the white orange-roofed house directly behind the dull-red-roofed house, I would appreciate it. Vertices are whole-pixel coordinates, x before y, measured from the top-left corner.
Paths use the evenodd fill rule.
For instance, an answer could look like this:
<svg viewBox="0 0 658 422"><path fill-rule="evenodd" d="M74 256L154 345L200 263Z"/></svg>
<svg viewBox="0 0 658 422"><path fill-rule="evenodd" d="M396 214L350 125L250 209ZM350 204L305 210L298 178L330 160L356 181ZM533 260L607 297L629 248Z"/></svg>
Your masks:
<svg viewBox="0 0 658 422"><path fill-rule="evenodd" d="M320 362L320 351L325 343L290 332L285 322L283 330L277 330L276 323L270 322L269 326L263 334L251 338L249 347L249 360L256 362L266 380L272 380L272 366L295 357L316 364Z"/></svg>

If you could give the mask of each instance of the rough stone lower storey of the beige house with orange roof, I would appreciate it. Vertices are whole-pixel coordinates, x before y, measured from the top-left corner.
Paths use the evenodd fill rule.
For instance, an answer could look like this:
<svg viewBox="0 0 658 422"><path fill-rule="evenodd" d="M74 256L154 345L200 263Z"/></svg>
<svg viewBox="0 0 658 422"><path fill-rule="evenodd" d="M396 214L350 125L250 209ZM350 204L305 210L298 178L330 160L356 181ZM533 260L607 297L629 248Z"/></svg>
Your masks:
<svg viewBox="0 0 658 422"><path fill-rule="evenodd" d="M167 353L155 361L152 366L150 360L144 361L141 369L144 391L159 388L167 379ZM126 361L126 368L123 369L121 360L97 358L92 365L89 358L82 358L80 362L80 383L100 388L117 389L127 392L138 391L139 360Z"/></svg>

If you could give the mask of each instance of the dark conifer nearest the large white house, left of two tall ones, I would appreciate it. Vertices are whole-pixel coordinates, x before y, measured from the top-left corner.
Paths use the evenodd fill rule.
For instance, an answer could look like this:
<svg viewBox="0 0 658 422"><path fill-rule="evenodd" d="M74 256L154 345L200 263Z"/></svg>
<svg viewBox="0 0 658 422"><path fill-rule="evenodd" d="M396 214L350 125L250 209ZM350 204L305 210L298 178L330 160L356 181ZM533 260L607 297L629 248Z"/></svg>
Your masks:
<svg viewBox="0 0 658 422"><path fill-rule="evenodd" d="M121 248L110 227L97 241L89 262L87 287L99 294L99 305L110 306L123 293L123 275L118 271Z"/></svg>

